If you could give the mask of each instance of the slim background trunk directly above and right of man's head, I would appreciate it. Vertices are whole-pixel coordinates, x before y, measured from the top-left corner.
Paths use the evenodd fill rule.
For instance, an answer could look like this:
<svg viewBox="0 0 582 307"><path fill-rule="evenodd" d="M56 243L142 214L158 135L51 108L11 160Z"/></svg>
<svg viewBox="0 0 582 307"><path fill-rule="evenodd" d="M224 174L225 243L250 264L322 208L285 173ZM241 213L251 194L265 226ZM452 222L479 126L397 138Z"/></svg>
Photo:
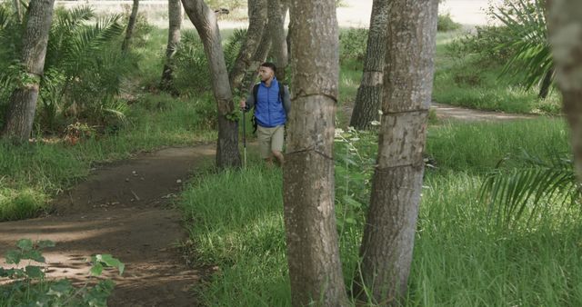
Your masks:
<svg viewBox="0 0 582 307"><path fill-rule="evenodd" d="M287 7L283 1L267 0L268 29L271 34L271 52L276 65L276 79L285 82L285 69L289 62L285 35L285 16Z"/></svg>

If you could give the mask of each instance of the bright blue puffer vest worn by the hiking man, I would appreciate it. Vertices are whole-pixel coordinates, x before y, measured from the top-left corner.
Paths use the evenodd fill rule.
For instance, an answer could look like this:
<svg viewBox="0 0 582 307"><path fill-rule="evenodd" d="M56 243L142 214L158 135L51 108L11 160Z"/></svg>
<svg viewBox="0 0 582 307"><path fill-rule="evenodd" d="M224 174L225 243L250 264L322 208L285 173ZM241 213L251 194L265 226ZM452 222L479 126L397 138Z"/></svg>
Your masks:
<svg viewBox="0 0 582 307"><path fill-rule="evenodd" d="M258 92L255 97L251 93L246 98L247 108L255 106L255 118L256 123L262 127L276 127L281 124L285 124L287 120L287 111L289 109L289 92L287 88L284 88L284 97L281 101L279 97L279 86L284 86L279 84L276 78L273 78L271 86L266 86L265 83L261 82L258 85Z"/></svg>

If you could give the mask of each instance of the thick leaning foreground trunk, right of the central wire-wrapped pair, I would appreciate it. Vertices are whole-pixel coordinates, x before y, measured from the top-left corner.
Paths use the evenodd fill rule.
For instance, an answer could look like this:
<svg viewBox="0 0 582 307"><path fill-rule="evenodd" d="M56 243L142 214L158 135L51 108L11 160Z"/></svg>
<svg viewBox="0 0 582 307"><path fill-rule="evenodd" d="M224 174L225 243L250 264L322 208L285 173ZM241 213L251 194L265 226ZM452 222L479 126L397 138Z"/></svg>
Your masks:
<svg viewBox="0 0 582 307"><path fill-rule="evenodd" d="M388 9L383 115L360 248L361 280L382 305L398 305L406 295L433 85L437 4L391 0ZM356 284L356 295L362 294L361 286Z"/></svg>

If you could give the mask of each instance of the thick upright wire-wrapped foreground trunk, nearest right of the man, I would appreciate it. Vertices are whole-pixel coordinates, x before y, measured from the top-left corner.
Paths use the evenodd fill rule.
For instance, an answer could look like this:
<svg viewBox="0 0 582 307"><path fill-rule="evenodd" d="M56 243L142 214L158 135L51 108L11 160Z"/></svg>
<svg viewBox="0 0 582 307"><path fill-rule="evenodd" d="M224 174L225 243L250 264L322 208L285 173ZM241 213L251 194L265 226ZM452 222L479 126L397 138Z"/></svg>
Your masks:
<svg viewBox="0 0 582 307"><path fill-rule="evenodd" d="M335 0L296 0L291 10L293 111L284 170L286 255L291 301L346 305L334 209Z"/></svg>

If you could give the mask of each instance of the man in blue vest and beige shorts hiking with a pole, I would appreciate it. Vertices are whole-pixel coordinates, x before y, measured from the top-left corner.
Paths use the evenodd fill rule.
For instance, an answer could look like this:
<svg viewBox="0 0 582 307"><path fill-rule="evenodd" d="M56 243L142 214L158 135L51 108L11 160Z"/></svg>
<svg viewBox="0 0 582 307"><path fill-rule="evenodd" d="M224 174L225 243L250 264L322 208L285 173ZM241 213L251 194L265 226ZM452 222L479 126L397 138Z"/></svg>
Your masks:
<svg viewBox="0 0 582 307"><path fill-rule="evenodd" d="M259 66L260 84L240 102L240 107L247 112L255 107L256 135L258 138L261 158L267 164L273 163L273 156L279 165L283 165L283 139L287 114L291 107L289 90L284 84L279 84L275 77L276 66L273 63L263 63Z"/></svg>

